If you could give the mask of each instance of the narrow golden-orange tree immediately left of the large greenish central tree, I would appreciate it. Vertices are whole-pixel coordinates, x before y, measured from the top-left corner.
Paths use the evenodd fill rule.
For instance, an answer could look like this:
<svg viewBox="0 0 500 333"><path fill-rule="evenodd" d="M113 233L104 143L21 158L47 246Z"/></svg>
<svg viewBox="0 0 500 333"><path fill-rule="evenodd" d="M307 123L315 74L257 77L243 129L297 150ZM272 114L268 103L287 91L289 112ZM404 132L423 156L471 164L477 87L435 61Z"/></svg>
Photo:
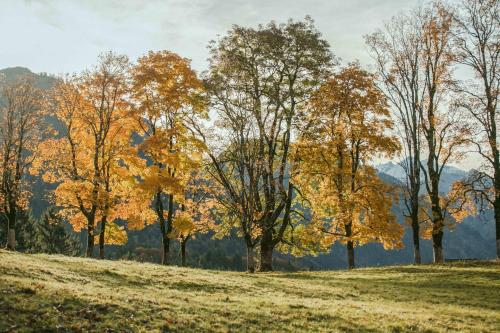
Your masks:
<svg viewBox="0 0 500 333"><path fill-rule="evenodd" d="M139 190L153 201L162 239L162 264L168 264L176 210L185 199L193 170L200 167L204 144L192 124L207 117L202 84L189 60L169 51L149 52L132 69L135 121L140 152L148 161ZM184 213L177 214L177 222Z"/></svg>

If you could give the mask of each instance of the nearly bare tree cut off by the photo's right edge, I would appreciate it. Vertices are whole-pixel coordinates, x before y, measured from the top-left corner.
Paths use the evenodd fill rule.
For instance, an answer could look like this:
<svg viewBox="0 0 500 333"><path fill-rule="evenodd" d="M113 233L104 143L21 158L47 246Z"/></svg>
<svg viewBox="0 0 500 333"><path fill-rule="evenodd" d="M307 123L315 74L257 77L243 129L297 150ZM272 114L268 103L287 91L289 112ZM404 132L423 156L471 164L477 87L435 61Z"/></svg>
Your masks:
<svg viewBox="0 0 500 333"><path fill-rule="evenodd" d="M470 139L485 163L462 182L465 191L493 207L496 249L500 258L500 152L498 148L498 96L500 90L500 2L464 0L454 15L455 61L471 70L463 82L460 107L475 122Z"/></svg>

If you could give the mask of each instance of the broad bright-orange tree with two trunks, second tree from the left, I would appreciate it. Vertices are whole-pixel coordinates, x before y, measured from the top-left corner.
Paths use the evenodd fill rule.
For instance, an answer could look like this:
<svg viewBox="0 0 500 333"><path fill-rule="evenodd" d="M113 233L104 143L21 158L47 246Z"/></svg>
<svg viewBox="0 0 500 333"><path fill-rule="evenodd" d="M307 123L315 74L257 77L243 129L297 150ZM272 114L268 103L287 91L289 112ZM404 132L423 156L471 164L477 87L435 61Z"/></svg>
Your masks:
<svg viewBox="0 0 500 333"><path fill-rule="evenodd" d="M126 100L127 73L125 56L105 53L92 70L57 83L49 108L63 130L40 145L43 154L33 168L58 184L55 204L75 230L86 230L88 257L97 235L101 257L105 242L125 242L125 230L114 220L140 214L124 209L130 204L124 193L135 179L130 162L136 154L130 147L134 122ZM147 217L140 215L144 222Z"/></svg>

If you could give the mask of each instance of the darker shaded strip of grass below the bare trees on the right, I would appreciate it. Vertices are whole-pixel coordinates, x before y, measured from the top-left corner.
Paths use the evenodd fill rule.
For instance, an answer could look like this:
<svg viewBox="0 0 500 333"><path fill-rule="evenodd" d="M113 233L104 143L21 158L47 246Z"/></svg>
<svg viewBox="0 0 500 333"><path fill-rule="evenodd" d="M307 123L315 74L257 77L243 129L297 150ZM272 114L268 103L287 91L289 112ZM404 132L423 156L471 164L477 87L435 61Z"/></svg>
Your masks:
<svg viewBox="0 0 500 333"><path fill-rule="evenodd" d="M481 269L475 269L474 267ZM365 296L392 302L417 301L424 304L448 304L498 311L500 308L500 276L494 268L498 263L486 265L432 265L415 267L391 267L380 270L360 270L352 275L335 273L328 276L313 274L280 274L278 279L297 280L303 284L310 280L311 286L325 288L283 288L279 282L270 288L281 290L297 297L339 299L363 298ZM453 267L451 269L450 267ZM462 269L463 267L463 269ZM490 270L489 267L492 269ZM397 275L393 273L403 273ZM328 278L330 277L330 278Z"/></svg>

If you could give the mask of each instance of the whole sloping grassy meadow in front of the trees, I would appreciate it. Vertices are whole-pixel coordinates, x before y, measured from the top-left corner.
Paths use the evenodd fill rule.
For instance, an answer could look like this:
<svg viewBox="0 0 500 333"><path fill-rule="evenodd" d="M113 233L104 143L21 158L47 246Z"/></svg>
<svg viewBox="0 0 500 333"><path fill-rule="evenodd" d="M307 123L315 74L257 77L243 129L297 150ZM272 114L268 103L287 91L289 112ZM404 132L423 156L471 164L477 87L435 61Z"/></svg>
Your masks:
<svg viewBox="0 0 500 333"><path fill-rule="evenodd" d="M0 250L0 332L499 329L499 262L247 274Z"/></svg>

